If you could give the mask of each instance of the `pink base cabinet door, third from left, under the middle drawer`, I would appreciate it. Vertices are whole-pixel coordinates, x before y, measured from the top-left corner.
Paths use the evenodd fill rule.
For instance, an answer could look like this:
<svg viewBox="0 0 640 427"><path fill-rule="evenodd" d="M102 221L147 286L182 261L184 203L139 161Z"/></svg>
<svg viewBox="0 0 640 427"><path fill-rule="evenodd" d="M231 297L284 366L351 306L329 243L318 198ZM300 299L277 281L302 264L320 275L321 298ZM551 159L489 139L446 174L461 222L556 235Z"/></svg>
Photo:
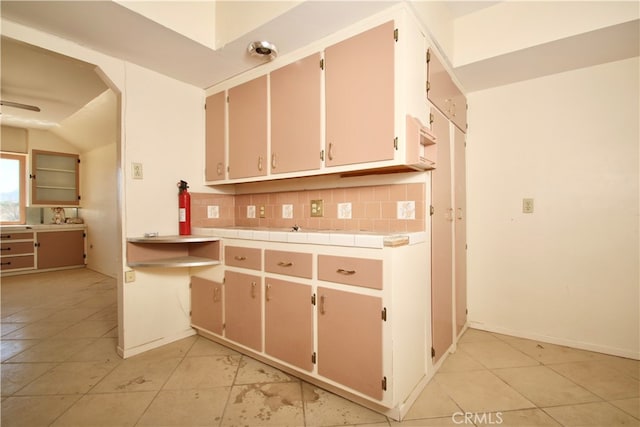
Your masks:
<svg viewBox="0 0 640 427"><path fill-rule="evenodd" d="M311 286L267 277L264 307L265 352L312 371Z"/></svg>

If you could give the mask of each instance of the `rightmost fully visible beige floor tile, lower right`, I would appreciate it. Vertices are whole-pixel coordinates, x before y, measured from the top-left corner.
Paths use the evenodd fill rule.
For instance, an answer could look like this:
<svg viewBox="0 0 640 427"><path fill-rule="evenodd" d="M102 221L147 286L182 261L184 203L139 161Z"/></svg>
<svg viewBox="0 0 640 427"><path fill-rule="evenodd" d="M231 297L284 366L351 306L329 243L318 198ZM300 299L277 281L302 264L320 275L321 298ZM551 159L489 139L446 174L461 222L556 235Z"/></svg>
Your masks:
<svg viewBox="0 0 640 427"><path fill-rule="evenodd" d="M570 405L601 400L545 366L494 369L492 372L537 406Z"/></svg>

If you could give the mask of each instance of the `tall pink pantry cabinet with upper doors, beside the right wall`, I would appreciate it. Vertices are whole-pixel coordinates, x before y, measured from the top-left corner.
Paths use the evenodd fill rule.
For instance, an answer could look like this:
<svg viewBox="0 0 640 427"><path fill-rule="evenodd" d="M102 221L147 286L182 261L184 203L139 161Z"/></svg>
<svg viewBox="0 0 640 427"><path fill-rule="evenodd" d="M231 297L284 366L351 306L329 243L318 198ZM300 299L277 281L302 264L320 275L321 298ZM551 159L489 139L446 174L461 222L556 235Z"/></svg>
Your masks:
<svg viewBox="0 0 640 427"><path fill-rule="evenodd" d="M465 132L467 102L438 56L427 51L427 98L438 141L431 175L431 329L436 363L467 321Z"/></svg>

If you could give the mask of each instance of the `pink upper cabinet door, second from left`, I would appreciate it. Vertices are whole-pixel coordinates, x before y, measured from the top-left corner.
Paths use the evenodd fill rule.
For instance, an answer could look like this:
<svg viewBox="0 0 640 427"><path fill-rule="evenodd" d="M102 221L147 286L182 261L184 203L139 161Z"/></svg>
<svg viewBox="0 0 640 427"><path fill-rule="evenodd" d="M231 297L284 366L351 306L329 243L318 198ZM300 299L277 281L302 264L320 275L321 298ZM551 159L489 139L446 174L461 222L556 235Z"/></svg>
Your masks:
<svg viewBox="0 0 640 427"><path fill-rule="evenodd" d="M267 174L267 76L229 89L229 178Z"/></svg>

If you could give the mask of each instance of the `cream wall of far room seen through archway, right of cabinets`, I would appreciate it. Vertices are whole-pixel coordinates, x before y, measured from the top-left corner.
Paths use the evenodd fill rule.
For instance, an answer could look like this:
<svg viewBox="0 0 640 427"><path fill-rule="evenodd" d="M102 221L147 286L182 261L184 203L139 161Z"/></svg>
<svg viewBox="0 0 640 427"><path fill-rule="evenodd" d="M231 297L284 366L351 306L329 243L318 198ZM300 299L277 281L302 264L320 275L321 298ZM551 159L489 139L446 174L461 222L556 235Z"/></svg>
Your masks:
<svg viewBox="0 0 640 427"><path fill-rule="evenodd" d="M87 224L87 267L117 277L121 266L113 254L120 250L118 229L118 166L116 143L80 156L82 193L80 216Z"/></svg>

